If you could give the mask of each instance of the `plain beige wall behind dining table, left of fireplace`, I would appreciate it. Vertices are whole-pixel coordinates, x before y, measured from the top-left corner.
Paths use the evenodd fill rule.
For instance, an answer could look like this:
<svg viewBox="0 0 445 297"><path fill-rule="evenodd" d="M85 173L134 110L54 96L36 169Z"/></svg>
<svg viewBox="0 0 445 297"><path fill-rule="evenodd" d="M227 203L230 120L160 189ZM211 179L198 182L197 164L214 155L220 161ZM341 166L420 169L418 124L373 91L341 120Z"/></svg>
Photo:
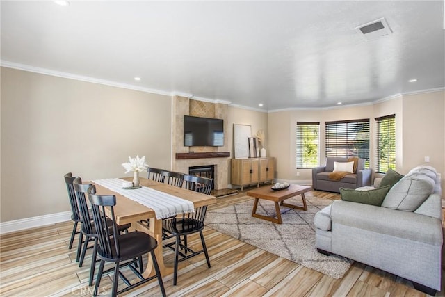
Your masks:
<svg viewBox="0 0 445 297"><path fill-rule="evenodd" d="M136 154L170 168L171 122L167 96L2 67L1 222L70 210L66 172L124 176Z"/></svg>

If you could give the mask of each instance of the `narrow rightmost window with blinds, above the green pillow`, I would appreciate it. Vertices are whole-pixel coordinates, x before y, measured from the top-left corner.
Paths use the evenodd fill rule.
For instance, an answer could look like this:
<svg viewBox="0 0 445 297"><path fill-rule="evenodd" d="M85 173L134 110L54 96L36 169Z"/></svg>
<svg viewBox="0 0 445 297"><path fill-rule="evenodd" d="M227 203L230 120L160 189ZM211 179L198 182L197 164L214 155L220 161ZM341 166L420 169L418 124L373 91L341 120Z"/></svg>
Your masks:
<svg viewBox="0 0 445 297"><path fill-rule="evenodd" d="M377 123L377 164L375 172L396 169L396 115L375 118Z"/></svg>

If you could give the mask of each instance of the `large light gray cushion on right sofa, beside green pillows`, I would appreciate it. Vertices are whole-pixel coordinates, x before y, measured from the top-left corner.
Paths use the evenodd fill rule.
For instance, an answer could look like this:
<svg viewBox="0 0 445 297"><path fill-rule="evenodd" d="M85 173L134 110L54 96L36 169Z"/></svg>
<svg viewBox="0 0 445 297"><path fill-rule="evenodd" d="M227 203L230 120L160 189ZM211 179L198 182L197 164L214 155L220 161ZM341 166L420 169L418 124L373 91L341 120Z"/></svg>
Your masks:
<svg viewBox="0 0 445 297"><path fill-rule="evenodd" d="M405 176L391 187L382 207L415 211L432 193L434 184L428 175Z"/></svg>

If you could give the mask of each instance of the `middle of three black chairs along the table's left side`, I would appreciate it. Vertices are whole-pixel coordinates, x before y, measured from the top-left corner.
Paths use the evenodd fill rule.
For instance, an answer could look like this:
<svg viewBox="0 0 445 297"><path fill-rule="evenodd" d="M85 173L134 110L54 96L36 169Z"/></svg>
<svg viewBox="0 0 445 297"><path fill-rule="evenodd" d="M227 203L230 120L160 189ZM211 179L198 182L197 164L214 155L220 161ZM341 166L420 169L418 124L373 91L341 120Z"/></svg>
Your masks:
<svg viewBox="0 0 445 297"><path fill-rule="evenodd" d="M86 195L88 193L88 188L92 186L92 184L82 184L82 179L80 177L76 177L73 182L74 192L76 193L77 204L79 205L79 213L81 216L81 236L79 239L78 250L81 250L81 257L79 259L79 267L83 265L83 259L85 259L86 250L88 248L88 243L93 242L92 246L92 260L90 267L90 280L88 284L92 285L92 279L95 275L95 267L96 267L96 254L97 254L97 232L92 221L92 213L88 208L88 203L86 202ZM108 220L111 220L108 218ZM118 225L118 232L128 232L129 227L131 227L131 223ZM113 231L113 230L111 230ZM85 236L85 240L82 241L83 236ZM83 245L83 248L82 248Z"/></svg>

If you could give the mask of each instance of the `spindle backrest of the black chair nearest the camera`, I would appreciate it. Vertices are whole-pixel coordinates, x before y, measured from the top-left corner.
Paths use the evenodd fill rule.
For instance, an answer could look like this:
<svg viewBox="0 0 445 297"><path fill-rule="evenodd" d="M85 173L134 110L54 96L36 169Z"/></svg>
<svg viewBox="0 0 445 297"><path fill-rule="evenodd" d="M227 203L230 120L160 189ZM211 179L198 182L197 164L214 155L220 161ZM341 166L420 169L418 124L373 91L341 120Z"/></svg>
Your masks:
<svg viewBox="0 0 445 297"><path fill-rule="evenodd" d="M119 259L119 232L114 215L116 196L96 195L96 187L92 185L88 188L88 200L91 203L92 219L99 239L99 254L108 259ZM109 211L110 220L106 219L106 209Z"/></svg>

